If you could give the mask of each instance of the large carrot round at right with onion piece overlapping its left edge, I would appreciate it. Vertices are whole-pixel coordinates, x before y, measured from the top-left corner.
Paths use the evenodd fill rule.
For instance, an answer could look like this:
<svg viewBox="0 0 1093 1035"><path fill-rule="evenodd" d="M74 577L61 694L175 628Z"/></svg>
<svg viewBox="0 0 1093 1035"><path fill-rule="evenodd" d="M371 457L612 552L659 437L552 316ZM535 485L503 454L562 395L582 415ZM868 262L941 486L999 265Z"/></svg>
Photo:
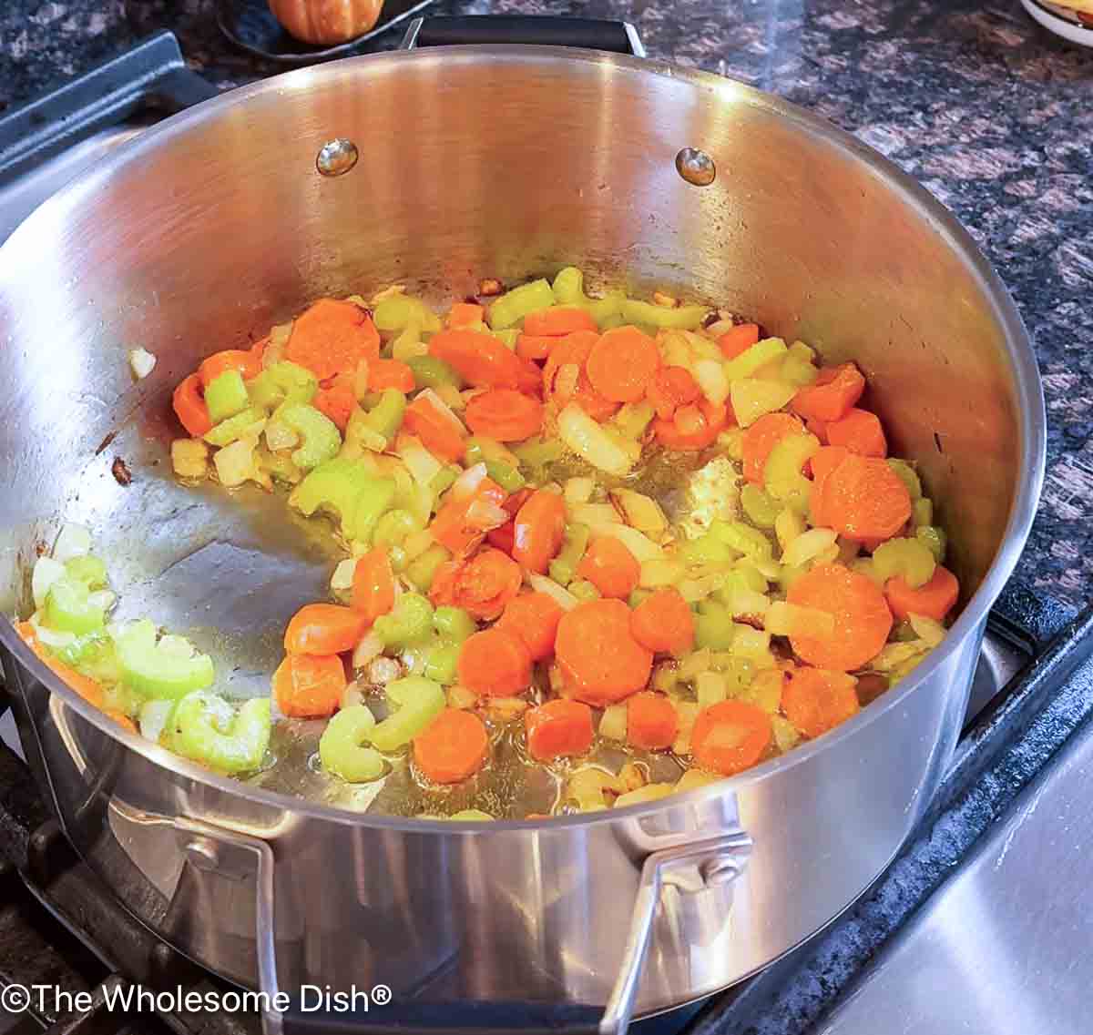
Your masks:
<svg viewBox="0 0 1093 1035"><path fill-rule="evenodd" d="M830 637L790 637L797 655L818 668L861 668L880 653L892 631L892 612L877 584L842 564L818 564L794 582L786 599L835 619Z"/></svg>

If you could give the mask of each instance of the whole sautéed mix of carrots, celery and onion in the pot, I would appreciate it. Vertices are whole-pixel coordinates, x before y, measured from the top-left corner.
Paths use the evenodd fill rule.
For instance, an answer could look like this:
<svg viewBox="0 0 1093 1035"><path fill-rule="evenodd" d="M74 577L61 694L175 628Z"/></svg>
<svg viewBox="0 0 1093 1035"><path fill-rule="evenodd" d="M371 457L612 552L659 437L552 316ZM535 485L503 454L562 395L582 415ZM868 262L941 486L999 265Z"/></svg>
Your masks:
<svg viewBox="0 0 1093 1035"><path fill-rule="evenodd" d="M17 628L224 773L257 778L274 723L318 721L313 769L401 774L414 813L529 814L491 784L513 759L548 788L533 816L648 801L822 736L944 635L945 536L865 386L703 305L590 297L573 267L443 317L401 287L324 298L174 393L177 477L286 486L346 554L269 699L219 695L152 620L111 623L78 526Z"/></svg>

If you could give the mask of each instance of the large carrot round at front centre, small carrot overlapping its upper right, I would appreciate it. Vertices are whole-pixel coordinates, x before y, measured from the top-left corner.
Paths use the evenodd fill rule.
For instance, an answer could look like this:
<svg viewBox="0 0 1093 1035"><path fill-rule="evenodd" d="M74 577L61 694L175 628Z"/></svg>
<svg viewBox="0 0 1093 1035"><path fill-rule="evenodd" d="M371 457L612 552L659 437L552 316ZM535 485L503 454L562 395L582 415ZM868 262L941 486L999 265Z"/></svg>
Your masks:
<svg viewBox="0 0 1093 1035"><path fill-rule="evenodd" d="M592 705L636 693L653 668L653 652L631 633L630 608L622 600L588 600L566 611L554 653L572 695Z"/></svg>

